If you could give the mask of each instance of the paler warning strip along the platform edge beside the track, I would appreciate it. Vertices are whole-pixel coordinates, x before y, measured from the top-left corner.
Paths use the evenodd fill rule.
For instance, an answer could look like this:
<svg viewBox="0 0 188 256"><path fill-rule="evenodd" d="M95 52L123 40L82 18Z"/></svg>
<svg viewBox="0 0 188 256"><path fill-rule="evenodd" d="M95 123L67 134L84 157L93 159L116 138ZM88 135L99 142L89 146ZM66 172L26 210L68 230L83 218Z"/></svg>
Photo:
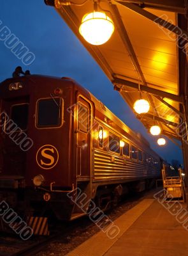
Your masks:
<svg viewBox="0 0 188 256"><path fill-rule="evenodd" d="M103 256L153 202L154 199L145 199L115 220L113 224L120 228L120 232L115 238L110 239L105 232L100 231L66 256Z"/></svg>

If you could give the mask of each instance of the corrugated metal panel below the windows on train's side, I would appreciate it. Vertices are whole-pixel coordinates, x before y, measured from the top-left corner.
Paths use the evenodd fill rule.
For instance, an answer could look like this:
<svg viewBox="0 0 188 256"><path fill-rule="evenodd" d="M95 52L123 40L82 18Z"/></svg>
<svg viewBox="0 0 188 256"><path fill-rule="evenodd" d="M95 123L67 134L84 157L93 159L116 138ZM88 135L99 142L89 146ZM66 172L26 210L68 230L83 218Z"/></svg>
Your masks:
<svg viewBox="0 0 188 256"><path fill-rule="evenodd" d="M159 164L139 163L131 159L94 150L94 179L140 179L157 177L160 174Z"/></svg>

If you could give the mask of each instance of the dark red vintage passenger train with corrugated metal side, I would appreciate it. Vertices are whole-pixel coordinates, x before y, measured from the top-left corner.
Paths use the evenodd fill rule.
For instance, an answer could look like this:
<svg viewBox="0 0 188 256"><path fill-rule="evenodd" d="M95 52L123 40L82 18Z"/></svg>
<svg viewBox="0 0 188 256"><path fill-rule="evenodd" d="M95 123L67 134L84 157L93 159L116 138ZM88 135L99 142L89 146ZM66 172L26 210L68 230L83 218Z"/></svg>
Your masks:
<svg viewBox="0 0 188 256"><path fill-rule="evenodd" d="M160 176L141 135L68 77L18 71L0 86L0 201L18 214L73 220ZM85 212L67 193L87 196Z"/></svg>

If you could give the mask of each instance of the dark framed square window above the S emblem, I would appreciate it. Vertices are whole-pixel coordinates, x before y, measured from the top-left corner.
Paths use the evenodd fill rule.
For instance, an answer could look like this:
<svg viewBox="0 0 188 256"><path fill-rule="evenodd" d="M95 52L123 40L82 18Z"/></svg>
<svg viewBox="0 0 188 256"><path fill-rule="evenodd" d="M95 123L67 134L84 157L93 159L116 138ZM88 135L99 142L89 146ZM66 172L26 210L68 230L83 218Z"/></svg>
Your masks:
<svg viewBox="0 0 188 256"><path fill-rule="evenodd" d="M62 123L62 99L54 97L38 100L37 127L58 127Z"/></svg>

